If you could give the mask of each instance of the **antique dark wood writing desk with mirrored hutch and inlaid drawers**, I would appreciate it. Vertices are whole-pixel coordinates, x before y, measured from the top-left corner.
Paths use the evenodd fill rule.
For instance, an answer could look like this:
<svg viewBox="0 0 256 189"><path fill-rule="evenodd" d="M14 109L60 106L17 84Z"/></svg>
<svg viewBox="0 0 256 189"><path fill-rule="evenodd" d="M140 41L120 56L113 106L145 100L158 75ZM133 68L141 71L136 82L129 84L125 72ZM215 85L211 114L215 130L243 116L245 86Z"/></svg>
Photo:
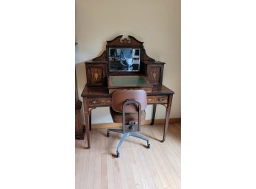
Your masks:
<svg viewBox="0 0 256 189"><path fill-rule="evenodd" d="M132 36L124 40L121 40L121 38L122 35L107 41L106 51L101 56L85 62L87 83L81 96L89 148L91 110L96 107L110 107L113 91L120 88L143 88L146 90L148 104L153 104L151 124L154 124L157 104L166 107L166 121L161 142L166 138L174 91L162 85L163 65L165 63L156 62L148 57L145 49L143 49L143 42ZM129 52L131 55L129 55ZM121 61L124 62L121 63ZM137 78L138 82L135 82L136 79L134 78ZM142 79L146 79L146 82ZM141 84L142 82L143 84Z"/></svg>

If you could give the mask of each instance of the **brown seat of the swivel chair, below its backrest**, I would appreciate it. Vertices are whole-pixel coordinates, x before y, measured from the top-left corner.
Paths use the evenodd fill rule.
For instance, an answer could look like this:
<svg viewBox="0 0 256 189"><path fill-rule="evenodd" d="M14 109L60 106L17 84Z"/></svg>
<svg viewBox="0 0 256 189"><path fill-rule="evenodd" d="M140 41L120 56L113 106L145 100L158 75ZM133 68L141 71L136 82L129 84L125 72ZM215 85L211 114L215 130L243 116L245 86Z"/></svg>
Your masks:
<svg viewBox="0 0 256 189"><path fill-rule="evenodd" d="M113 110L113 108L110 107L110 114L115 123L122 123L123 113L115 112L115 110ZM145 112L145 110L142 110L141 111L141 121L145 120L145 118L146 118L146 112ZM138 122L138 113L126 113L125 114L125 122L129 122L129 121Z"/></svg>

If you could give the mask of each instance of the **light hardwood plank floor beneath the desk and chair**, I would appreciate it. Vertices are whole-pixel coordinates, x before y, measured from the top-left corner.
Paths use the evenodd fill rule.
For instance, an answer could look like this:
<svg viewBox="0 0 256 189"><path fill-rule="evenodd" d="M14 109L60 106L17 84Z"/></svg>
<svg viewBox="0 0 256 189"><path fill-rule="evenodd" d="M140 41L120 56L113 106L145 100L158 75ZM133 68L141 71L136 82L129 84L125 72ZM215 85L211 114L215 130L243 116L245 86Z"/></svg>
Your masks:
<svg viewBox="0 0 256 189"><path fill-rule="evenodd" d="M166 141L163 125L141 126L146 141L129 137L115 158L121 134L107 129L92 129L90 149L86 140L76 140L77 189L180 188L180 124L169 124Z"/></svg>

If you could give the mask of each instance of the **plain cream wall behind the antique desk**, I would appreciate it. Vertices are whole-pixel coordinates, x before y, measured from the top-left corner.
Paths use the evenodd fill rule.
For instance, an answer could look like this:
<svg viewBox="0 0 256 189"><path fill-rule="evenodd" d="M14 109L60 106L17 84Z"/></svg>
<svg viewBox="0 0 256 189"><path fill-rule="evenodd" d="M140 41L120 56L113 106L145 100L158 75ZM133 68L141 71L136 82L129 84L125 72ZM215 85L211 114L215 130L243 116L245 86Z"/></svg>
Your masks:
<svg viewBox="0 0 256 189"><path fill-rule="evenodd" d="M106 40L132 35L144 41L149 57L165 62L163 85L174 90L171 118L180 118L180 1L76 0L76 70L79 96L86 83L85 64L99 56ZM81 97L79 97L82 99ZM152 106L146 119L151 118ZM157 106L157 118L166 109ZM107 107L93 110L93 123L113 122Z"/></svg>

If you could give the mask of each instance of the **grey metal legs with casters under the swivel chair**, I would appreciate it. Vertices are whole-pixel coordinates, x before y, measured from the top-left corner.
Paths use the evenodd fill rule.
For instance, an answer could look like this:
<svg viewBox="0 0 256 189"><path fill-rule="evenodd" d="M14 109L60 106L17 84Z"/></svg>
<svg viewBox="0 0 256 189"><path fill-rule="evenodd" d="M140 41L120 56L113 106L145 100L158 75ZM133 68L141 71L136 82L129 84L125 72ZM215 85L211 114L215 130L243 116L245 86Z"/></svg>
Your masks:
<svg viewBox="0 0 256 189"><path fill-rule="evenodd" d="M119 132L119 133L124 133L122 129L107 129L107 137L110 136L110 131L111 132ZM124 135L122 136L121 140L118 143L118 147L116 149L116 157L120 157L120 149L121 146L124 143L124 140L127 139L129 136L135 137L135 138L141 138L142 140L146 140L147 143L147 148L150 149L150 143L149 143L149 138L146 138L144 135L140 135L137 132L125 132Z"/></svg>

